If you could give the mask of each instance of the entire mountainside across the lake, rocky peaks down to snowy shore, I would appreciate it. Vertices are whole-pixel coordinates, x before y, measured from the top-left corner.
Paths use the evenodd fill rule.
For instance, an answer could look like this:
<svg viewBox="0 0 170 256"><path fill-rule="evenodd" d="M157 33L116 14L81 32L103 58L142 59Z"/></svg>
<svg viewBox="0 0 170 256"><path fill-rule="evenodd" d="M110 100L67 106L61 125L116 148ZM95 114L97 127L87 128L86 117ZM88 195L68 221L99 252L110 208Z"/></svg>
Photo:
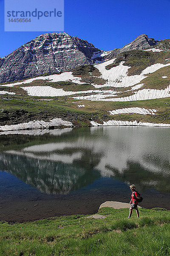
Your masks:
<svg viewBox="0 0 170 256"><path fill-rule="evenodd" d="M2 131L63 125L56 118L74 126L170 126L168 39L141 35L104 52L66 33L45 34L0 61L1 79L29 77L0 85Z"/></svg>

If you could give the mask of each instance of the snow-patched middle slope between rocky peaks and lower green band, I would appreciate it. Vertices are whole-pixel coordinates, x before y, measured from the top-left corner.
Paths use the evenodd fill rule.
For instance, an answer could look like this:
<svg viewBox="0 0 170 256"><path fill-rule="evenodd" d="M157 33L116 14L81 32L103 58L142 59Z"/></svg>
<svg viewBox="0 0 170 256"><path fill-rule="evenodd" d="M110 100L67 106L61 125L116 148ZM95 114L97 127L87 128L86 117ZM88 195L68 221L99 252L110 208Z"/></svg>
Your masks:
<svg viewBox="0 0 170 256"><path fill-rule="evenodd" d="M94 66L79 66L70 72L4 84L0 93L71 96L76 100L105 102L167 98L169 74L170 52L131 50Z"/></svg>

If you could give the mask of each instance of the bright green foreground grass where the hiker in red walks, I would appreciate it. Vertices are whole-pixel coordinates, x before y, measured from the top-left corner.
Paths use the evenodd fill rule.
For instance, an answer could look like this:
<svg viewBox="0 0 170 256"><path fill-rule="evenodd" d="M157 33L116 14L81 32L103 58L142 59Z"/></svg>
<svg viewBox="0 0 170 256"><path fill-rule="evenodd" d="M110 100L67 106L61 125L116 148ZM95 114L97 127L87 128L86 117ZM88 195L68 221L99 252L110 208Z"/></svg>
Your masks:
<svg viewBox="0 0 170 256"><path fill-rule="evenodd" d="M0 222L1 256L168 256L170 211L102 208L97 220L63 216L21 224Z"/></svg>

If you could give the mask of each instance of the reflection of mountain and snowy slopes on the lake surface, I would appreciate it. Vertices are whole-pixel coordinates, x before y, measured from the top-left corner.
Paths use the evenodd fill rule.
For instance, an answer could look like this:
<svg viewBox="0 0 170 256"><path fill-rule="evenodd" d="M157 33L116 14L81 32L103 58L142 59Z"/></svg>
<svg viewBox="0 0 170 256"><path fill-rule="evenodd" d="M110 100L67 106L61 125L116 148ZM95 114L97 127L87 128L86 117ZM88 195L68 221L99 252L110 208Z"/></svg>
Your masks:
<svg viewBox="0 0 170 256"><path fill-rule="evenodd" d="M0 170L48 194L99 177L170 192L170 128L92 127L0 135Z"/></svg>

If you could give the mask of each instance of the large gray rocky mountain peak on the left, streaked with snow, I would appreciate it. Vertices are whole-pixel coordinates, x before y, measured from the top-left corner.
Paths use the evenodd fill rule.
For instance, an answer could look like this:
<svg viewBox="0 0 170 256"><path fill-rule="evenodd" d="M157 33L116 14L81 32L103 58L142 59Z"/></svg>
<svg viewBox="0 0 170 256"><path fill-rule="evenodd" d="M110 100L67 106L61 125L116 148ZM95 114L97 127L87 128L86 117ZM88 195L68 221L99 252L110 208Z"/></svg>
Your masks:
<svg viewBox="0 0 170 256"><path fill-rule="evenodd" d="M0 58L0 83L93 64L102 51L67 33L47 33ZM101 58L101 57L100 57Z"/></svg>

